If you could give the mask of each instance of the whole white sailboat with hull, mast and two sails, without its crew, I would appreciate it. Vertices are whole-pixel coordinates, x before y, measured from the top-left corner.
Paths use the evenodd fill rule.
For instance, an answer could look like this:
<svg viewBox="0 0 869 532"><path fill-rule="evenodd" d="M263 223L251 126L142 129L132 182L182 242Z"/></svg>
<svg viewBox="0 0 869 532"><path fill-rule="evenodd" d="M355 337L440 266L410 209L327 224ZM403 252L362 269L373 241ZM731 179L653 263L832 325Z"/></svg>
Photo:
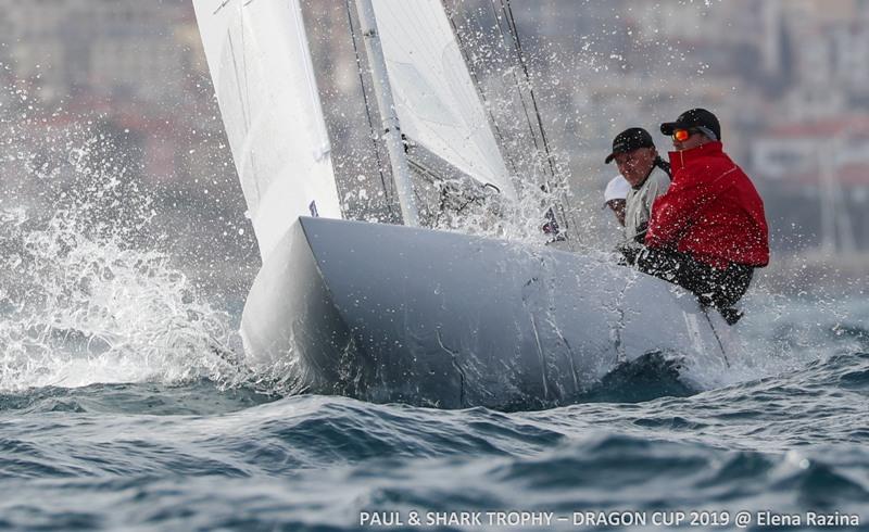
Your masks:
<svg viewBox="0 0 869 532"><path fill-rule="evenodd" d="M420 226L407 141L516 194L439 0L355 0L404 225L342 219L299 0L193 4L263 261L241 320L254 370L299 392L511 408L569 403L653 353L729 364L723 321L678 287Z"/></svg>

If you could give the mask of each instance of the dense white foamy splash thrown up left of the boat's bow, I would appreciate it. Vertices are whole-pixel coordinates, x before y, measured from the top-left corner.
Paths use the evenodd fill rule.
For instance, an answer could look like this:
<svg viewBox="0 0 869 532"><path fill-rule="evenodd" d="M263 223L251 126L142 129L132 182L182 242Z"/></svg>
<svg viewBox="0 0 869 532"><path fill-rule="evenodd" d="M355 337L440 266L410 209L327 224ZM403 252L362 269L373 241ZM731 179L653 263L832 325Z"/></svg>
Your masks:
<svg viewBox="0 0 869 532"><path fill-rule="evenodd" d="M239 378L225 312L156 251L88 237L76 212L0 212L0 390Z"/></svg>

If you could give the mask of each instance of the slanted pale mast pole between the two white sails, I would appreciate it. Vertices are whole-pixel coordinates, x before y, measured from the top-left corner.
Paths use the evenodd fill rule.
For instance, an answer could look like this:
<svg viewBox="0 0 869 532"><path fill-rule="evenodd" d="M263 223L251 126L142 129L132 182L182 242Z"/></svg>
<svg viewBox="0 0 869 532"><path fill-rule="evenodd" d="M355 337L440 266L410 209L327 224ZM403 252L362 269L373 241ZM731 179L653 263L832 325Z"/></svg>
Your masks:
<svg viewBox="0 0 869 532"><path fill-rule="evenodd" d="M374 16L371 0L356 0L356 12L360 16L362 36L365 40L365 51L368 54L368 64L371 67L374 92L386 138L387 153L392 166L392 178L395 180L395 190L401 205L401 215L406 226L419 226L419 213L416 208L411 170L404 153L404 143L401 139L399 115L395 102L392 99L392 89L389 85L387 63L383 50L380 47L380 37L377 34L377 22Z"/></svg>

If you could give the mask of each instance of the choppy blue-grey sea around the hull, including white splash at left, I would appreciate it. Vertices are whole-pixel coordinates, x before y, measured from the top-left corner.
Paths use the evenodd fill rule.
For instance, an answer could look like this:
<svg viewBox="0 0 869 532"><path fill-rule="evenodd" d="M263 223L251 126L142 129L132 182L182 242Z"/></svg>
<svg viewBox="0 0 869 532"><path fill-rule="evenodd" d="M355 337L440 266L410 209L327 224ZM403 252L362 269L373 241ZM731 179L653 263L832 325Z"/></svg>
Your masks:
<svg viewBox="0 0 869 532"><path fill-rule="evenodd" d="M286 395L167 256L0 223L2 529L869 525L862 299L750 294L714 388L439 410Z"/></svg>

